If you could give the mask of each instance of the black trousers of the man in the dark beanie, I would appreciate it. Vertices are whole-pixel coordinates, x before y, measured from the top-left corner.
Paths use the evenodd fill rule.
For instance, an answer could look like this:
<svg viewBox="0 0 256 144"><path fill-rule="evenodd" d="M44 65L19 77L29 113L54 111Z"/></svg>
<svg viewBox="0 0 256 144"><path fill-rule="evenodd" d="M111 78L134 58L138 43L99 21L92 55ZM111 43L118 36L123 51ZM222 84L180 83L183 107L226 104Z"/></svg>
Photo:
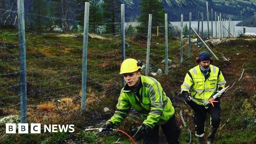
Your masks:
<svg viewBox="0 0 256 144"><path fill-rule="evenodd" d="M210 104L209 107L206 109L205 106L198 105L203 112L206 114L210 114L211 116L211 126L215 129L218 129L221 121L221 106L220 106L220 101L214 102L214 107ZM202 137L205 133L205 119L206 117L199 115L198 112L194 111L194 122L195 122L195 131L196 131L196 136Z"/></svg>

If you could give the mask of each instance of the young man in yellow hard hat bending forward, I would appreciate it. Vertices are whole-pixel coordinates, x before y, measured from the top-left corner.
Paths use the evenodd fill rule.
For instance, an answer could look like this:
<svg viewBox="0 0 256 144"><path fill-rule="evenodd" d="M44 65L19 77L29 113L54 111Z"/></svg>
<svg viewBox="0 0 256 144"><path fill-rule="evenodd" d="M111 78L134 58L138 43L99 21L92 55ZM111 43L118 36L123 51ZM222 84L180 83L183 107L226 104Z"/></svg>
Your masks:
<svg viewBox="0 0 256 144"><path fill-rule="evenodd" d="M123 61L120 74L123 74L126 84L121 90L115 114L102 125L102 128L113 128L118 125L133 107L144 120L133 136L135 141L144 139L143 143L157 144L161 126L169 144L179 143L180 128L172 102L156 79L141 75L141 67L142 63L139 60L128 58Z"/></svg>

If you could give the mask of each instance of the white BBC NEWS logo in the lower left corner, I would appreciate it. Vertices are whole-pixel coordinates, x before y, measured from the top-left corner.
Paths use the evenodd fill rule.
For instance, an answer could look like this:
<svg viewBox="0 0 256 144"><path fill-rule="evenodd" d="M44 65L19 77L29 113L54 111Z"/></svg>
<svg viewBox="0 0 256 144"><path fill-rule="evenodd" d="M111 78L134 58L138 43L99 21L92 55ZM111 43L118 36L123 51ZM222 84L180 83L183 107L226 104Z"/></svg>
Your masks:
<svg viewBox="0 0 256 144"><path fill-rule="evenodd" d="M44 132L74 132L74 125L44 125ZM18 124L18 133L28 133L28 124ZM16 133L16 124L6 124L6 133ZM30 124L30 133L41 133L41 124Z"/></svg>

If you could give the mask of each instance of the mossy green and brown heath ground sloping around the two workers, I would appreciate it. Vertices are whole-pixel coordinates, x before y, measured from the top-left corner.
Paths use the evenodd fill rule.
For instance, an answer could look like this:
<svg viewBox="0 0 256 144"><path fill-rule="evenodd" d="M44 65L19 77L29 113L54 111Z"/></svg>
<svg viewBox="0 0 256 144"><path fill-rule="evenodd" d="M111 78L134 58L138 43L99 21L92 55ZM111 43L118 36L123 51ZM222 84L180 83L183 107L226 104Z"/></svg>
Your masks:
<svg viewBox="0 0 256 144"><path fill-rule="evenodd" d="M0 118L19 115L19 47L16 29L1 29L0 39ZM94 131L85 132L86 128L98 128L109 119L114 111L120 94L121 76L121 38L107 36L108 39L89 37L87 63L87 110L80 110L82 83L82 45L83 36L79 34L40 34L26 32L27 55L27 109L28 123L73 124L74 133L41 133L41 134L5 134L5 123L0 124L0 143L114 143L122 141L131 143L121 133L100 134ZM146 36L126 36L131 48L126 49L126 58L146 61ZM165 58L164 35L152 35L150 50L150 72L158 68L164 70L161 61ZM168 48L169 74L152 76L162 85L165 93L173 102L176 117L179 112L188 127L180 126L181 143L189 140L187 128L194 136L193 111L178 96L180 85L190 68L197 65L195 56L188 58L187 40L184 40L184 62L180 64L180 39L169 36ZM238 39L222 39L222 43L211 47L220 60L214 59L229 89L222 102L222 121L217 133L217 143L256 143L256 39L243 37ZM198 54L206 48L195 49ZM222 56L229 58L224 61ZM241 74L244 73L241 77ZM144 73L144 71L143 71ZM241 79L240 79L241 77ZM240 80L239 80L240 79ZM104 112L103 108L109 108ZM181 120L180 120L181 121ZM17 119L16 122L19 122ZM133 128L140 125L141 119L135 111L121 123L117 129L133 135ZM207 118L206 131L209 129ZM161 144L163 134L160 134Z"/></svg>

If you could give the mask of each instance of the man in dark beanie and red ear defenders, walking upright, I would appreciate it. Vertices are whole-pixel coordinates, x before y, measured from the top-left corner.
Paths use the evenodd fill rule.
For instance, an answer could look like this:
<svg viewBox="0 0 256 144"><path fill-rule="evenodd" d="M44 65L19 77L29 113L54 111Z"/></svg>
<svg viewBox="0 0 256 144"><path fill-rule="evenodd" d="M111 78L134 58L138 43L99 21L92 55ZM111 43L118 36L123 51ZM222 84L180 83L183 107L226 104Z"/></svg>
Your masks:
<svg viewBox="0 0 256 144"><path fill-rule="evenodd" d="M212 58L207 51L201 51L196 61L198 66L190 69L181 85L181 94L188 104L193 104L193 118L195 122L195 135L197 143L204 144L206 114L211 116L210 130L207 137L207 144L213 144L215 134L220 124L220 95L215 99L214 106L207 105L208 100L219 90L225 88L224 79L218 67L211 65Z"/></svg>

